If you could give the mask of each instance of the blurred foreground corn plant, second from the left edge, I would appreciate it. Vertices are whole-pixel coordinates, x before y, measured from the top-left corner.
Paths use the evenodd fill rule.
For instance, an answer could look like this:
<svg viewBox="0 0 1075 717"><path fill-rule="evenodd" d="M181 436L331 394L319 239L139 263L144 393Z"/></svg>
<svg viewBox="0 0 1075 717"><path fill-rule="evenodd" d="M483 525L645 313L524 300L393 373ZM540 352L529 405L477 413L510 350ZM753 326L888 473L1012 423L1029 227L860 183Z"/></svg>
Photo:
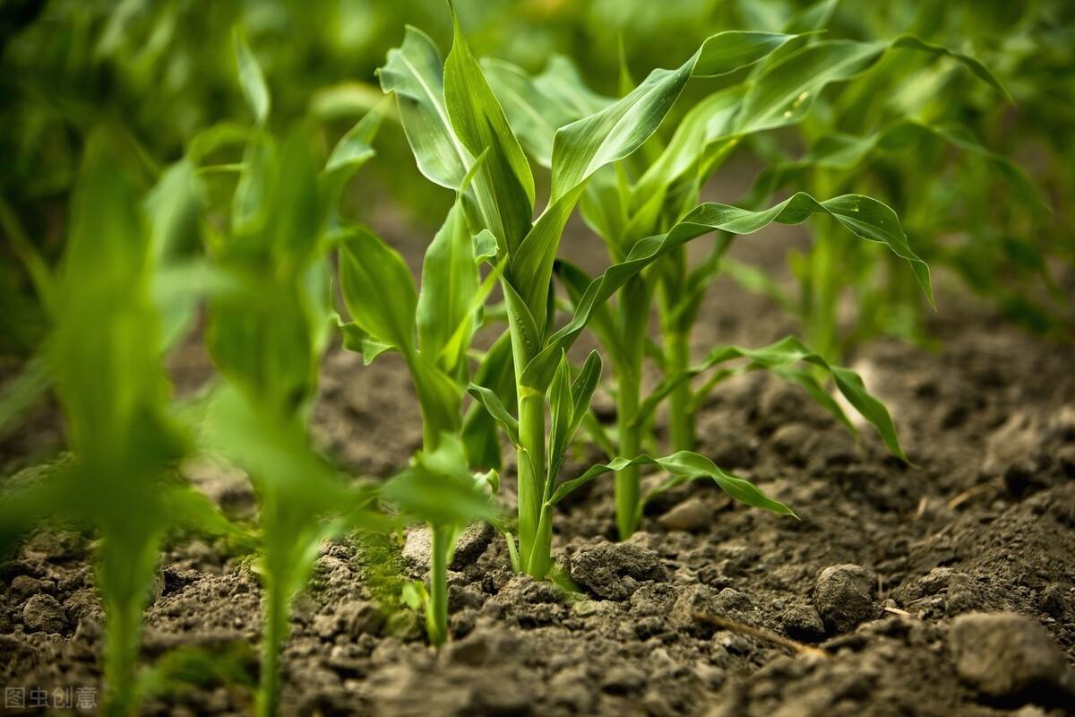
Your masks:
<svg viewBox="0 0 1075 717"><path fill-rule="evenodd" d="M206 227L213 268L226 288L209 301L205 343L224 382L202 433L205 448L243 468L257 493L256 570L264 586L257 714L275 715L291 600L321 542L348 529L392 525L376 511L375 489L341 479L309 436L330 338L325 224L335 214L327 205L338 198L339 172L357 168L372 150L362 139L370 126L361 123L327 166L304 126L278 143L264 128L269 95L260 70L242 43L236 47L257 125L247 133L227 230Z"/></svg>

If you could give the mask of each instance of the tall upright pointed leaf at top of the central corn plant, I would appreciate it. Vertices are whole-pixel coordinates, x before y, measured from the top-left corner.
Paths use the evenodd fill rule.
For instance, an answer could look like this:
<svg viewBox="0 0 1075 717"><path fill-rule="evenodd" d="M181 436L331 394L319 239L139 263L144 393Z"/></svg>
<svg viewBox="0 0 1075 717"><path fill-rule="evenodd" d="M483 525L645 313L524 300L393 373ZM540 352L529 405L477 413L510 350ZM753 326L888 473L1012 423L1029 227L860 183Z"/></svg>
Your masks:
<svg viewBox="0 0 1075 717"><path fill-rule="evenodd" d="M514 248L530 229L534 182L522 147L507 125L507 117L489 87L453 13L452 52L444 62L444 99L456 137L473 156L488 152L478 170L479 196L490 196L497 212L486 226Z"/></svg>

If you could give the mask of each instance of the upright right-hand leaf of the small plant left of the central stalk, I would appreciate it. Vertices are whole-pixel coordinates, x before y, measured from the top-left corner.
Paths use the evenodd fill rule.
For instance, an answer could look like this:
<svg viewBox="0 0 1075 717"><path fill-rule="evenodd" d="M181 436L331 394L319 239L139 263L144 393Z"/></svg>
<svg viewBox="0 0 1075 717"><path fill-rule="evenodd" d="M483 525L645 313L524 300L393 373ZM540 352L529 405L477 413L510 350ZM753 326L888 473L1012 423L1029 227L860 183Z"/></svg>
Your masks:
<svg viewBox="0 0 1075 717"><path fill-rule="evenodd" d="M477 263L474 243L462 204L457 202L436 232L421 267L421 291L418 295L418 346L430 357L441 357L464 322L473 325L474 297L478 292ZM465 329L463 329L465 332ZM450 356L441 363L448 374L463 360L469 342L456 342Z"/></svg>

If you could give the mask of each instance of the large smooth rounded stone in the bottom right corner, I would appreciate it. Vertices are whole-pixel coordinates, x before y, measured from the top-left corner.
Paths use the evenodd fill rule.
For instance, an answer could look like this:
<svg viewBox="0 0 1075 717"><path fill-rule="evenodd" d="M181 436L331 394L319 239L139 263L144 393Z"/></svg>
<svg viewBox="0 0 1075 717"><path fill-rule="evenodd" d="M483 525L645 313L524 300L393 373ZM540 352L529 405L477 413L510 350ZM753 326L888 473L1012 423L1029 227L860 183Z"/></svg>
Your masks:
<svg viewBox="0 0 1075 717"><path fill-rule="evenodd" d="M983 694L1029 698L1041 689L1075 690L1063 653L1022 615L961 615L952 621L949 644L956 672Z"/></svg>

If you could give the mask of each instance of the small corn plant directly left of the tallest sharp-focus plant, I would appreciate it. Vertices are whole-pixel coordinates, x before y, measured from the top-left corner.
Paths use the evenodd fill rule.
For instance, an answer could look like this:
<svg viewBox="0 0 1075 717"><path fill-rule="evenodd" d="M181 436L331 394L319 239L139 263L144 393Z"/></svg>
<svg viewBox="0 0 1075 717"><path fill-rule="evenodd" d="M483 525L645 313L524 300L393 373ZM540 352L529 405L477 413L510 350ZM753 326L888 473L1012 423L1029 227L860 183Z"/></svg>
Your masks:
<svg viewBox="0 0 1075 717"><path fill-rule="evenodd" d="M408 594L425 610L434 645L448 637L447 567L459 534L472 522L497 519L490 501L497 473L472 473L461 441L468 353L499 273L494 268L481 278L479 264L489 258L482 240L472 238L457 202L426 252L419 291L403 258L372 231L341 227L333 233L349 314L339 320L344 347L367 362L385 352L402 355L421 408L422 450L385 486L385 496L429 526L430 587L410 586ZM471 447L483 455L498 450L494 439L491 447Z"/></svg>

